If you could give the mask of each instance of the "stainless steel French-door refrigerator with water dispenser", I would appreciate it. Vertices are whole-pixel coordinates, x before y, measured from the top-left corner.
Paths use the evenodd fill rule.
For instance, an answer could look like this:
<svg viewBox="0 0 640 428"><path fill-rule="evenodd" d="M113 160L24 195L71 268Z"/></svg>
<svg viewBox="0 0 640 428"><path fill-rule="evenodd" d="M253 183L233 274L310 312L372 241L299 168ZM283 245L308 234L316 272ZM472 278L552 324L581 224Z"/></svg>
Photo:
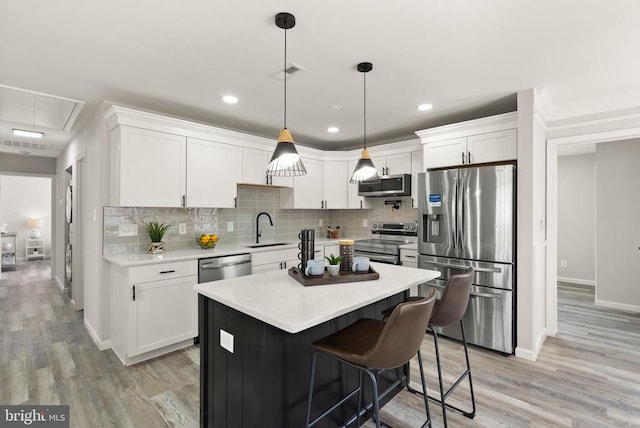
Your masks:
<svg viewBox="0 0 640 428"><path fill-rule="evenodd" d="M511 164L418 175L418 267L442 273L420 294L441 293L450 275L472 266L467 342L505 354L515 348L515 180ZM439 333L461 338L457 323Z"/></svg>

